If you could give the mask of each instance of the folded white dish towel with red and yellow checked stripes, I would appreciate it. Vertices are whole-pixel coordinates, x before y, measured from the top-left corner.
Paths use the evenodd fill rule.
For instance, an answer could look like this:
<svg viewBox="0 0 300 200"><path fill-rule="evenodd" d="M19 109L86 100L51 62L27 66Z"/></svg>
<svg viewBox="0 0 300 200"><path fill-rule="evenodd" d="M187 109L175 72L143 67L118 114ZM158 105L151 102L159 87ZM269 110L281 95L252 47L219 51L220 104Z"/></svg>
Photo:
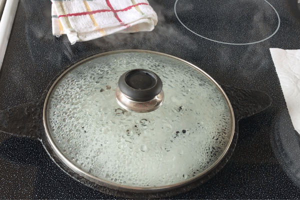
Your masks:
<svg viewBox="0 0 300 200"><path fill-rule="evenodd" d="M53 35L73 44L116 32L151 31L157 15L147 0L51 0Z"/></svg>

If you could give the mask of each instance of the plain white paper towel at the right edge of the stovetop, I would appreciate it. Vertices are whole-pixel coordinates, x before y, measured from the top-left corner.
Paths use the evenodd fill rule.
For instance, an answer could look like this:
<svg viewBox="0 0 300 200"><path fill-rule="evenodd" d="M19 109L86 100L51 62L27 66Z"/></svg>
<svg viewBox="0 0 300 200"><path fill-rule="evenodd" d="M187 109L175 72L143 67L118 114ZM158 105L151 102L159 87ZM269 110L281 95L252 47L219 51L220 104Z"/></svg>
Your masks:
<svg viewBox="0 0 300 200"><path fill-rule="evenodd" d="M300 50L270 48L288 113L300 133Z"/></svg>

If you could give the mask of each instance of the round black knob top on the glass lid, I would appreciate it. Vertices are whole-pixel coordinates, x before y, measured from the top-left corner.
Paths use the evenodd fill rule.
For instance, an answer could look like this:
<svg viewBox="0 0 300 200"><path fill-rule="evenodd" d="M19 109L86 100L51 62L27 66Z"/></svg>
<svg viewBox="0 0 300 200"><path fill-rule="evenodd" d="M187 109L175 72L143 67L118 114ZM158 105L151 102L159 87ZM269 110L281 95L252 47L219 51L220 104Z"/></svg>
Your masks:
<svg viewBox="0 0 300 200"><path fill-rule="evenodd" d="M121 75L118 86L131 100L147 101L161 91L162 82L159 76L150 70L131 69Z"/></svg>

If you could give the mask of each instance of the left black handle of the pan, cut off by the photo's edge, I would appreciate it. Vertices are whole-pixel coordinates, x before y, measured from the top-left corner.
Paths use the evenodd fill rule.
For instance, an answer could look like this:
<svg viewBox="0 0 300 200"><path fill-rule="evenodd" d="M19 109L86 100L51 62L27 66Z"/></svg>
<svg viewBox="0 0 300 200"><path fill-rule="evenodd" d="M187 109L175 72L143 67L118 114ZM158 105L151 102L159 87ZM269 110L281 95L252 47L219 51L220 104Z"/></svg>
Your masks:
<svg viewBox="0 0 300 200"><path fill-rule="evenodd" d="M41 140L43 101L37 100L0 110L0 131Z"/></svg>

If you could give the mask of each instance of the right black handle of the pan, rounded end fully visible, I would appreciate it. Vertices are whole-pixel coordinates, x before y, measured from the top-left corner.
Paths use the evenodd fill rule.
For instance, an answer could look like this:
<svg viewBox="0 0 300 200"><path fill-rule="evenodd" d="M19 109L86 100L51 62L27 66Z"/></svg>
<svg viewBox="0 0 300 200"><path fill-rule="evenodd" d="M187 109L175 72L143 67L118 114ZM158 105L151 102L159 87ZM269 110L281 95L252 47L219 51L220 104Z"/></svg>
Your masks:
<svg viewBox="0 0 300 200"><path fill-rule="evenodd" d="M240 89L229 85L221 85L221 87L230 100L236 120L260 112L271 104L271 98L262 91Z"/></svg>

